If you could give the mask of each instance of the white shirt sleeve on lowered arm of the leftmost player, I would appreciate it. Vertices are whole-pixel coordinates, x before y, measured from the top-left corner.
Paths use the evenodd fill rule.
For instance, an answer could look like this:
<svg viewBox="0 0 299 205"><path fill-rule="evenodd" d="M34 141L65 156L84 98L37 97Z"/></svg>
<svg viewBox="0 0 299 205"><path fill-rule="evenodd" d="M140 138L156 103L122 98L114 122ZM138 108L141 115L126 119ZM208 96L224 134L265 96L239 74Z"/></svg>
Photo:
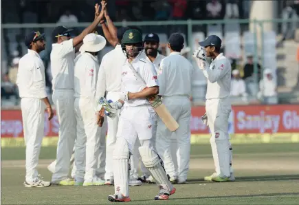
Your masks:
<svg viewBox="0 0 299 205"><path fill-rule="evenodd" d="M47 97L47 92L45 91L45 67L41 63L34 61L32 66L32 89L34 95L40 99Z"/></svg>

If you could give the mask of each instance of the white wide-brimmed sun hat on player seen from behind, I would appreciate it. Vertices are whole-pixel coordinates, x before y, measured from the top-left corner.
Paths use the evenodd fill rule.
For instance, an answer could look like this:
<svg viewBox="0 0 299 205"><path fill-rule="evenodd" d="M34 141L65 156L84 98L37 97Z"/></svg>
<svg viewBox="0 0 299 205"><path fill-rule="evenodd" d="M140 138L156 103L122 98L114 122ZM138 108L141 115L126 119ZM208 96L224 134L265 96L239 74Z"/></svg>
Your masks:
<svg viewBox="0 0 299 205"><path fill-rule="evenodd" d="M83 45L80 47L80 52L98 52L106 45L106 39L97 34L87 34L83 39Z"/></svg>

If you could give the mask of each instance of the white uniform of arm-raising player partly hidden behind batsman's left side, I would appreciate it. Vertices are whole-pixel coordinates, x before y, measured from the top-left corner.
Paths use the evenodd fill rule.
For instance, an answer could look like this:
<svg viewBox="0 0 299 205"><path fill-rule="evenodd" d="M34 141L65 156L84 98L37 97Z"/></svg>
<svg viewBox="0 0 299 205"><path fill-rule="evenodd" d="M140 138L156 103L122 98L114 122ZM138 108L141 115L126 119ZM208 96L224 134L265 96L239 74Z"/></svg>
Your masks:
<svg viewBox="0 0 299 205"><path fill-rule="evenodd" d="M116 45L114 50L105 54L100 64L98 72L98 83L96 90L96 99L104 96L107 100L117 101L120 98L120 89L122 87L122 65L126 62L126 56L122 52L120 44ZM107 118L108 133L106 141L106 166L105 180L113 180L113 160L112 154L116 142L116 133L118 131L119 116Z"/></svg>

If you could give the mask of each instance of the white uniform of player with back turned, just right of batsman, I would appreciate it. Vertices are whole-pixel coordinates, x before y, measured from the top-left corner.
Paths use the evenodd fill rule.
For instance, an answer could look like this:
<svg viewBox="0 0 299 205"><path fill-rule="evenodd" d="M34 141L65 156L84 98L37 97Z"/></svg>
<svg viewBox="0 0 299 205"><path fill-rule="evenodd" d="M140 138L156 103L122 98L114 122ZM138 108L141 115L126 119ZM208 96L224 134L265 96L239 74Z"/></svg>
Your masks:
<svg viewBox="0 0 299 205"><path fill-rule="evenodd" d="M156 147L164 161L166 173L170 177L179 177L186 181L190 158L190 117L193 67L191 63L179 52L172 52L164 58L160 67L158 80L160 83L159 95L162 102L177 120L179 129L171 133L159 118L157 125ZM171 155L171 135L174 134L179 147L177 159L178 170L175 169Z"/></svg>

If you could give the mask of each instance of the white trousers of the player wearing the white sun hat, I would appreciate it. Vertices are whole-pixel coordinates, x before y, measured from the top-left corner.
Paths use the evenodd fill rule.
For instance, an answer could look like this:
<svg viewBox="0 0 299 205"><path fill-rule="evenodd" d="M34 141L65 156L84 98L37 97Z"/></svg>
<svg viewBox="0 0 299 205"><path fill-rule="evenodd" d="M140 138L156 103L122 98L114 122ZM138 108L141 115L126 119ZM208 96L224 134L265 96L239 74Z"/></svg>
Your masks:
<svg viewBox="0 0 299 205"><path fill-rule="evenodd" d="M88 182L96 177L102 129L96 125L96 111L91 105L93 102L88 98L76 98L74 102L77 120L76 178L84 178Z"/></svg>

